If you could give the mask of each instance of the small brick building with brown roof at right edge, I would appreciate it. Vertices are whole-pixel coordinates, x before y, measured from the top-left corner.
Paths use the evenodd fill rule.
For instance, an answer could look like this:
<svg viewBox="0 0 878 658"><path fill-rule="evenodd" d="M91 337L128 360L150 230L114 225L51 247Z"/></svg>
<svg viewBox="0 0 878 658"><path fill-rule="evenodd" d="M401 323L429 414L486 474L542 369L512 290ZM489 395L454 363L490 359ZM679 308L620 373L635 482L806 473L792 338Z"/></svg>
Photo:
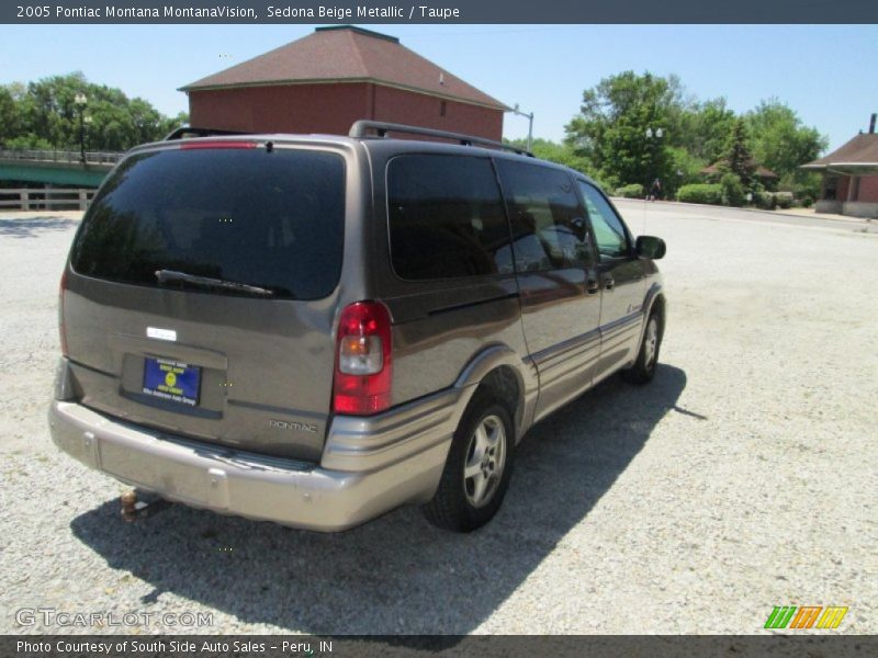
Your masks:
<svg viewBox="0 0 878 658"><path fill-rule="evenodd" d="M860 133L830 155L802 164L823 174L818 213L878 218L878 135L876 115Z"/></svg>

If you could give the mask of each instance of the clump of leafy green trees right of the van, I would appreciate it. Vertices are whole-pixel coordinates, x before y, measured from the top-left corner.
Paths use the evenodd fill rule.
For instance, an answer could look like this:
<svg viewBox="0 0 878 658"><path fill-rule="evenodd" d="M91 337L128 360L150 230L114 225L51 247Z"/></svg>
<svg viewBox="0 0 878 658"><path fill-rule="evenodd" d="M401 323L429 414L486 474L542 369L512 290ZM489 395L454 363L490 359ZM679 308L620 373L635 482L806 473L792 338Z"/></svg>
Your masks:
<svg viewBox="0 0 878 658"><path fill-rule="evenodd" d="M646 128L662 128L663 137L649 138ZM675 76L633 71L605 78L583 92L564 143L612 190L649 186L658 177L665 193L673 194L680 185L701 182L701 169L720 162L745 193L758 193L754 166L763 164L780 177L781 189L801 198L815 197L820 177L799 167L826 148L826 138L803 126L777 99L739 117L724 98L689 97ZM727 183L729 197L736 198L738 185L732 179Z"/></svg>

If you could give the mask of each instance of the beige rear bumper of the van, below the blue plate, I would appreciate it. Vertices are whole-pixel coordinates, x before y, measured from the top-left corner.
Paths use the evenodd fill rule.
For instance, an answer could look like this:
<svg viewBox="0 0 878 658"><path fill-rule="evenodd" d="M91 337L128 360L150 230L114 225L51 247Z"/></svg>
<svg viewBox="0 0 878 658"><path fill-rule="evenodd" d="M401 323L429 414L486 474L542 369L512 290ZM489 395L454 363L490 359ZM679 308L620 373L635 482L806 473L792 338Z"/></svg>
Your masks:
<svg viewBox="0 0 878 658"><path fill-rule="evenodd" d="M418 416L417 409L405 413ZM399 420L337 419L340 427L330 431L330 440L337 439L327 441L325 464L318 467L183 441L77 402L55 400L49 408L55 444L91 468L192 507L325 532L432 496L452 423L421 426L419 435L399 441L394 434ZM327 462L336 467L327 468Z"/></svg>

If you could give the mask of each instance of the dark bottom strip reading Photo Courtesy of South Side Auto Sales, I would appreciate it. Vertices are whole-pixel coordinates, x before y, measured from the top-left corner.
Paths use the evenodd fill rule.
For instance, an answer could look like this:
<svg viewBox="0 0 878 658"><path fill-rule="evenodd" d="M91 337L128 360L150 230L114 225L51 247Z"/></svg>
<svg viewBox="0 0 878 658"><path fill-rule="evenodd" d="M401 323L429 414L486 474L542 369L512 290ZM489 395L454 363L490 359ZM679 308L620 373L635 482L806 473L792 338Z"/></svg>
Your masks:
<svg viewBox="0 0 878 658"><path fill-rule="evenodd" d="M0 636L3 658L772 658L878 654L863 635L26 635Z"/></svg>

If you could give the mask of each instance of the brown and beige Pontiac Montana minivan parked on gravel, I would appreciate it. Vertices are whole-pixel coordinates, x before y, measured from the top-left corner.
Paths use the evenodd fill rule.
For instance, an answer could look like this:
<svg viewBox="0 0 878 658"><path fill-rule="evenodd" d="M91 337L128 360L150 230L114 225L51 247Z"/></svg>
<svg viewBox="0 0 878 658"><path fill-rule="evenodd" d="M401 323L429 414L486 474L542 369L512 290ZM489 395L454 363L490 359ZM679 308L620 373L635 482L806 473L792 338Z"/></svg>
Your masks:
<svg viewBox="0 0 878 658"><path fill-rule="evenodd" d="M664 252L582 173L476 137L140 146L61 276L52 436L216 512L338 531L417 503L472 531L533 423L653 377Z"/></svg>

